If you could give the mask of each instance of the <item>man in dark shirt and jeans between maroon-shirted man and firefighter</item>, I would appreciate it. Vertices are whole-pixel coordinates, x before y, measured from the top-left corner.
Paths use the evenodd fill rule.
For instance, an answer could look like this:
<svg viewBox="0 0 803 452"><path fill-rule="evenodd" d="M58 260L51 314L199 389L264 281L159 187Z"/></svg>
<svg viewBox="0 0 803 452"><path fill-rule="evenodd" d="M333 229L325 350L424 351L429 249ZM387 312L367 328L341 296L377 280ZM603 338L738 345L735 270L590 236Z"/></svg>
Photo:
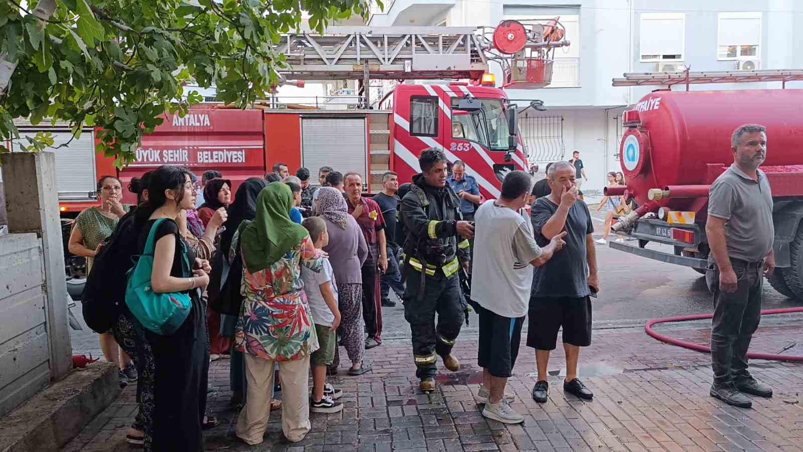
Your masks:
<svg viewBox="0 0 803 452"><path fill-rule="evenodd" d="M396 302L389 298L390 290L402 298L404 295L404 284L402 283L402 273L399 271L399 261L402 259L402 249L396 241L396 224L399 198L396 192L399 190L399 178L393 171L388 171L382 175L382 191L373 195L373 200L379 204L382 216L385 217L385 238L388 243L388 271L381 275L380 293L382 306L393 307Z"/></svg>

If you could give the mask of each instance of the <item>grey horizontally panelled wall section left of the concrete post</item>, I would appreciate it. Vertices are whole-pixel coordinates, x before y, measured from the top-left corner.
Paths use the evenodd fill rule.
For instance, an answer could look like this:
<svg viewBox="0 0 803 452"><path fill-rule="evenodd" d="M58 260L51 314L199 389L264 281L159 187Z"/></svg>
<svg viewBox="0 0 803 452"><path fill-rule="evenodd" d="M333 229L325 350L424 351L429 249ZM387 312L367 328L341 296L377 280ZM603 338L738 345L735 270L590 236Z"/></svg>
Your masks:
<svg viewBox="0 0 803 452"><path fill-rule="evenodd" d="M36 234L0 235L0 417L50 381L43 282Z"/></svg>

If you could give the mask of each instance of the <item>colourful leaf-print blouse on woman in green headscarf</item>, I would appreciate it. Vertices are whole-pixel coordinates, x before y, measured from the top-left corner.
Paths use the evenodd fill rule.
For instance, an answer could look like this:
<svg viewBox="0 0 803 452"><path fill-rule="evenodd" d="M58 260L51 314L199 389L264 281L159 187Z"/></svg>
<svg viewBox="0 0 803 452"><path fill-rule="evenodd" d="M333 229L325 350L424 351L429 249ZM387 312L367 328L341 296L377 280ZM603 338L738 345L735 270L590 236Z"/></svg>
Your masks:
<svg viewBox="0 0 803 452"><path fill-rule="evenodd" d="M323 268L309 236L268 269L251 273L243 264L243 307L234 333L239 351L264 360L294 361L318 349L301 265L316 272Z"/></svg>

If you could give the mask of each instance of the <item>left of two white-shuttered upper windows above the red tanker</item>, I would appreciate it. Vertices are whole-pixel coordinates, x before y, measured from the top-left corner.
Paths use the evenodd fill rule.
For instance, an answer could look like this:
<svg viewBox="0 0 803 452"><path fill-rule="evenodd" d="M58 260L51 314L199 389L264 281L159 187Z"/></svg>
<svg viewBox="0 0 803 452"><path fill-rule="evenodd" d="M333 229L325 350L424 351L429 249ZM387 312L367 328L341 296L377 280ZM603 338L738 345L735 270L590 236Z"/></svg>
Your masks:
<svg viewBox="0 0 803 452"><path fill-rule="evenodd" d="M686 14L642 13L641 61L683 61Z"/></svg>

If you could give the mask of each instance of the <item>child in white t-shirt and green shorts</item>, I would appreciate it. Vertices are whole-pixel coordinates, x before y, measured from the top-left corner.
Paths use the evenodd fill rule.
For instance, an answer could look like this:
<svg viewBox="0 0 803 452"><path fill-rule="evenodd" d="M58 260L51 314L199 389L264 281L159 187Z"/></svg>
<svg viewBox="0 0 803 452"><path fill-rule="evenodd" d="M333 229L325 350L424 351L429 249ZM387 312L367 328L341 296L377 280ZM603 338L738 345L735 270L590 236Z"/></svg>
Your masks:
<svg viewBox="0 0 803 452"><path fill-rule="evenodd" d="M302 223L309 231L309 236L317 249L329 243L329 234L324 220L312 216ZM316 335L320 348L312 353L312 401L309 410L312 413L339 413L343 404L336 401L343 396L343 391L326 383L326 368L335 357L337 340L335 331L340 325L340 310L337 309L337 285L335 274L328 258L324 257L323 267L315 271L305 265L301 266L301 278L304 280L304 292L307 294L312 311L312 322L315 323Z"/></svg>

